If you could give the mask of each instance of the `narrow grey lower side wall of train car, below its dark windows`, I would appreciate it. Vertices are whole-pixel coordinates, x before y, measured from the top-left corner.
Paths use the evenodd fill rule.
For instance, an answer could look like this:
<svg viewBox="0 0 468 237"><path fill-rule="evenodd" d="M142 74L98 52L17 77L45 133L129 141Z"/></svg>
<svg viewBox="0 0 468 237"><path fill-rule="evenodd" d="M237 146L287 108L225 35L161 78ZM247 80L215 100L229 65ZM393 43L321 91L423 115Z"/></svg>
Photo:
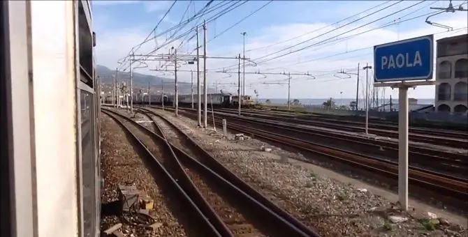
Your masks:
<svg viewBox="0 0 468 237"><path fill-rule="evenodd" d="M96 158L94 151L94 97L92 93L80 91L81 152L82 152L82 195L84 236L96 233Z"/></svg>

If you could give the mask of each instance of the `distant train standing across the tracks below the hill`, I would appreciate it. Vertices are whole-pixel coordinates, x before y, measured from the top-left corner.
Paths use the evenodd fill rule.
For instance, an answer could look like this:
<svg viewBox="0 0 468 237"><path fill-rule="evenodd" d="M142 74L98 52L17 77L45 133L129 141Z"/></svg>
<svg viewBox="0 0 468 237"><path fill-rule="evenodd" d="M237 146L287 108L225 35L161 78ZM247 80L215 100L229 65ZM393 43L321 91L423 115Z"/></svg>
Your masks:
<svg viewBox="0 0 468 237"><path fill-rule="evenodd" d="M127 95L129 96L129 95ZM133 97L133 105L162 105L161 99L163 99L164 105L172 106L174 102L174 95L147 95L146 93L136 93L136 96ZM203 95L201 96L202 105L203 105ZM241 107L254 107L255 102L252 100L250 95L241 95L240 96L240 105ZM130 100L130 98L128 98ZM112 95L106 95L105 103L112 103ZM213 105L214 107L226 107L226 108L236 108L239 106L239 96L232 95L231 93L211 93L207 94L208 105ZM122 105L126 105L126 98L122 99ZM191 105L192 95L179 95L178 102L180 106ZM198 103L198 96L193 95L193 104Z"/></svg>

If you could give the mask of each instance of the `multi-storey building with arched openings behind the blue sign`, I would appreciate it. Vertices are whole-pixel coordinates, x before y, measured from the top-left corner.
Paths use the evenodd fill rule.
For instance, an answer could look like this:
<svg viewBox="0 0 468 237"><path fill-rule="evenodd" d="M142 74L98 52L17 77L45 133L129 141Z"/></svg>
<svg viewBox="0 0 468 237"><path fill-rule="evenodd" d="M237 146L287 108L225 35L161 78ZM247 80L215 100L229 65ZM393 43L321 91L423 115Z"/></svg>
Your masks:
<svg viewBox="0 0 468 237"><path fill-rule="evenodd" d="M435 109L467 113L468 34L437 40Z"/></svg>

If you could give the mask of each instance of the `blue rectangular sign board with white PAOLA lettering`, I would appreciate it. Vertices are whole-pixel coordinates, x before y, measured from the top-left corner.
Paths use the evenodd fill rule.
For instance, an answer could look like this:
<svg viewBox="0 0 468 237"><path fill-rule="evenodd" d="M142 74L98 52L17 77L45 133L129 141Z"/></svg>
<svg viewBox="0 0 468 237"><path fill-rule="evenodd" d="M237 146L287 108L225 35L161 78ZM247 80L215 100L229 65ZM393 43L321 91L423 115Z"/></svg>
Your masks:
<svg viewBox="0 0 468 237"><path fill-rule="evenodd" d="M432 79L434 36L374 46L374 82Z"/></svg>

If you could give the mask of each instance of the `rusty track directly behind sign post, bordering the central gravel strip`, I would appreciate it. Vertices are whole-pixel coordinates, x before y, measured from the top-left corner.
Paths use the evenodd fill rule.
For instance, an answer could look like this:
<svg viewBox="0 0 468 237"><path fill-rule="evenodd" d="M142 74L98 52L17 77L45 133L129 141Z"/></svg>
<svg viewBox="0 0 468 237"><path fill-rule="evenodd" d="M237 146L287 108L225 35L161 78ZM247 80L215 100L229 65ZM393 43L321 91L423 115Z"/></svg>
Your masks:
<svg viewBox="0 0 468 237"><path fill-rule="evenodd" d="M181 114L195 119L195 114L191 112L181 111ZM212 122L212 119L208 119ZM215 117L215 123L221 126L221 119ZM250 124L250 125L249 125ZM305 141L288 135L283 135L282 128L270 128L269 130L261 130L255 124L251 124L248 119L240 119L239 121L230 120L228 128L236 132L242 132L247 135L254 135L256 138L265 139L269 142L282 144L296 148L300 151L306 151L315 155L326 157L330 160L343 162L352 167L370 171L372 174L386 176L393 181L397 181L398 167L395 162L388 160L376 159L363 153L344 151L339 148L323 146L314 142ZM451 200L458 200L461 205L466 205L468 200L468 183L463 178L447 176L438 172L428 171L417 167L409 169L409 183L414 187L424 188L433 194L443 194Z"/></svg>

